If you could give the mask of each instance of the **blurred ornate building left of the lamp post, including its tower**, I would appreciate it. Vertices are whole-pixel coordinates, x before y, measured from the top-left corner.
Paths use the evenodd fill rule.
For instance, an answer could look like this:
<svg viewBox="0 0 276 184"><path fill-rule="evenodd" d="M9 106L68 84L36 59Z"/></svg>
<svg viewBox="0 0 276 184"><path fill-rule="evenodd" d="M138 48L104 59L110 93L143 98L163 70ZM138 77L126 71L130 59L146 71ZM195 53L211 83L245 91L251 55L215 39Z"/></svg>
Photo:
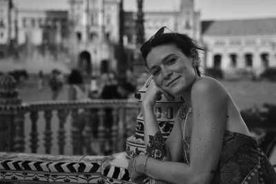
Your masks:
<svg viewBox="0 0 276 184"><path fill-rule="evenodd" d="M70 0L68 6L28 9L0 0L0 57L39 55L89 75L117 70L119 1ZM12 41L16 49L8 54Z"/></svg>

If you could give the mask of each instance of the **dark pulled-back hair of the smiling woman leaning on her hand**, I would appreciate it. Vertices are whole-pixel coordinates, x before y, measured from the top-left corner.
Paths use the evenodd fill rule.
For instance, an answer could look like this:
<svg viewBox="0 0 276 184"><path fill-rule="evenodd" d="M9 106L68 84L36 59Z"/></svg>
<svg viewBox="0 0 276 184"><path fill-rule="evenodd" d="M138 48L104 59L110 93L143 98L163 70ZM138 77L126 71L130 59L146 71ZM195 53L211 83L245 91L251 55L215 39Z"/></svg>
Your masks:
<svg viewBox="0 0 276 184"><path fill-rule="evenodd" d="M163 33L152 39L146 41L144 45L141 46L141 54L142 57L146 63L146 66L148 67L146 57L148 56L148 53L152 50L152 48L155 48L159 45L165 45L165 44L172 44L175 45L181 52L183 52L187 57L193 56L195 54L194 52L198 50L205 51L204 48L197 45L193 39L188 37L186 34L180 34L177 32L168 32ZM194 50L194 52L193 52ZM197 53L196 53L197 54ZM199 67L196 67L197 74L201 76L201 72L199 71Z"/></svg>

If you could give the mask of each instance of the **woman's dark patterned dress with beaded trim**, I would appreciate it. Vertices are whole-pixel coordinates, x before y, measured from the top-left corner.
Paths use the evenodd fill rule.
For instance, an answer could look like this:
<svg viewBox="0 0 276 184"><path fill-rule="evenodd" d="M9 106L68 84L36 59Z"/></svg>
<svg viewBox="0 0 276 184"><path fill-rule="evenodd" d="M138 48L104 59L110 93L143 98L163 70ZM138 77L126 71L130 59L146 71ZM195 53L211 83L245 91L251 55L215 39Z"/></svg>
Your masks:
<svg viewBox="0 0 276 184"><path fill-rule="evenodd" d="M188 153L190 146L187 143L184 145ZM252 136L226 130L221 158L212 184L217 183L275 184L276 173Z"/></svg>

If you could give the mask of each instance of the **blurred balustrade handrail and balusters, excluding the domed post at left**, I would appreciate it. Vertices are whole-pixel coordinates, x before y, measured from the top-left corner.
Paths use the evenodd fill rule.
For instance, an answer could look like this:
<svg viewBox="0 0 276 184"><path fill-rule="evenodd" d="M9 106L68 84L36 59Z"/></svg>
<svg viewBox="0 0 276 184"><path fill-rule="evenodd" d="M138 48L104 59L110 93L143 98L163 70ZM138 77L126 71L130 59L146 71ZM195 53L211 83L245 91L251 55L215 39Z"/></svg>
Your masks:
<svg viewBox="0 0 276 184"><path fill-rule="evenodd" d="M57 112L57 119L59 127L57 131L57 144L59 146L59 154L64 154L65 145L65 133L64 124L68 116L72 121L71 135L72 135L72 154L83 154L81 147L84 144L87 154L94 154L95 150L90 150L90 144L93 139L92 136L92 123L97 123L98 140L100 152L98 154L104 154L106 147L105 143L112 142L112 152L121 151L121 146L124 145L124 141L121 140L123 145L118 145L119 139L126 139L131 134L130 119L135 119L137 116L139 105L134 100L86 100L86 101L47 101L28 103L23 105L24 114L29 114L31 120L31 133L30 133L30 147L33 153L37 152L38 148L38 133L37 133L37 121L39 119L39 112L43 112L45 119L44 130L44 146L45 153L50 154L52 147L52 116L53 112ZM115 123L112 123L111 130L106 130L104 125L106 119L106 108L112 110L112 119ZM80 130L79 130L79 116L83 116L83 143L80 143ZM98 122L96 122L98 121ZM127 123L128 122L128 123ZM22 129L21 129L22 130ZM109 132L109 134L108 134ZM22 144L22 143L21 143ZM82 144L82 145L80 145ZM23 147L21 145L20 147ZM19 150L22 152L23 150Z"/></svg>

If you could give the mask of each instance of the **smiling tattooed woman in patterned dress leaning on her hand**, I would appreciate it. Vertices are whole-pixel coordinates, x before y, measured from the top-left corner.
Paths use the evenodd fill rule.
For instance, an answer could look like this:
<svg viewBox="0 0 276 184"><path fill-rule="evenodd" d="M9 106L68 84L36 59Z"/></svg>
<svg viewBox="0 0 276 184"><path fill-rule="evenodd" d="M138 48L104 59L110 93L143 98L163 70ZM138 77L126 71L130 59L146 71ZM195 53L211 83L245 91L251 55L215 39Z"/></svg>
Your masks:
<svg viewBox="0 0 276 184"><path fill-rule="evenodd" d="M276 183L272 165L219 81L201 76L198 51L186 34L161 28L141 47L152 74L144 96L147 155L130 160L132 181L149 176L156 183ZM185 100L164 141L154 105L159 95Z"/></svg>

